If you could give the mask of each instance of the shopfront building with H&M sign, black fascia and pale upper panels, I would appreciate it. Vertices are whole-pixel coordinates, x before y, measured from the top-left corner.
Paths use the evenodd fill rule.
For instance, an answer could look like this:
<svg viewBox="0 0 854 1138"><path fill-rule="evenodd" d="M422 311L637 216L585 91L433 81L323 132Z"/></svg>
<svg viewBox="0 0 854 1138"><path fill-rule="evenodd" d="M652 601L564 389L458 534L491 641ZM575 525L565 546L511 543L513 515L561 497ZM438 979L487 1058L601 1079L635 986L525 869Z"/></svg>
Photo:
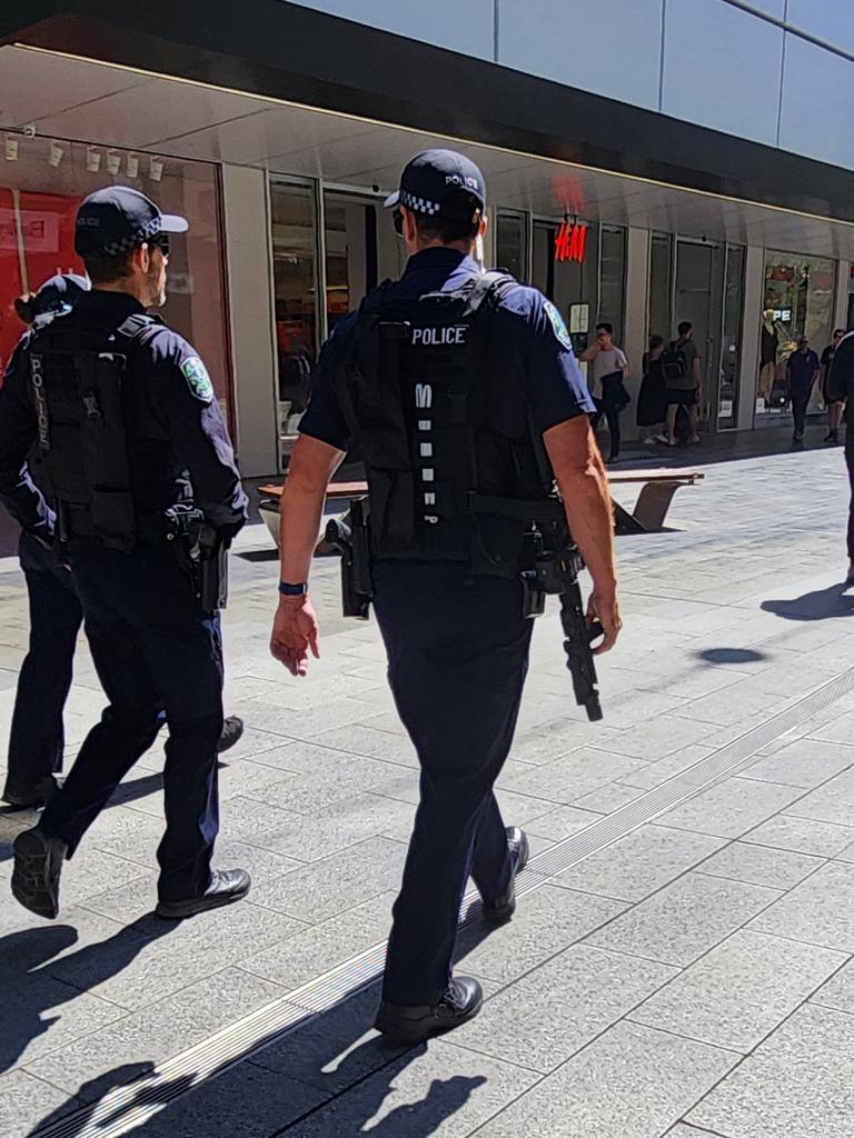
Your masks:
<svg viewBox="0 0 854 1138"><path fill-rule="evenodd" d="M848 327L848 7L7 0L0 356L14 296L79 267L81 197L136 185L191 221L165 315L244 472L273 473L323 339L402 267L383 197L414 152L457 146L486 174L484 259L543 289L578 347L611 322L637 389L649 335L691 320L705 429L780 422L795 339Z"/></svg>

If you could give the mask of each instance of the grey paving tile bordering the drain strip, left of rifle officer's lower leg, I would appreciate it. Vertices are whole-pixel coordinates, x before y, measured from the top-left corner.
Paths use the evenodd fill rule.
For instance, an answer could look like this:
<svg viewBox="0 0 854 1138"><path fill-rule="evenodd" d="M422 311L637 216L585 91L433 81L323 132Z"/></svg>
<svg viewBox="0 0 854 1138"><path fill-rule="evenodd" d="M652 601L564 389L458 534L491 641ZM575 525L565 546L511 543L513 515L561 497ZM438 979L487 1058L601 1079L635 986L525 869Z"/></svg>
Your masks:
<svg viewBox="0 0 854 1138"><path fill-rule="evenodd" d="M384 941L392 923L394 892L384 892L260 953L248 949L240 967L288 990L307 983L342 960ZM249 953L252 955L249 955Z"/></svg>

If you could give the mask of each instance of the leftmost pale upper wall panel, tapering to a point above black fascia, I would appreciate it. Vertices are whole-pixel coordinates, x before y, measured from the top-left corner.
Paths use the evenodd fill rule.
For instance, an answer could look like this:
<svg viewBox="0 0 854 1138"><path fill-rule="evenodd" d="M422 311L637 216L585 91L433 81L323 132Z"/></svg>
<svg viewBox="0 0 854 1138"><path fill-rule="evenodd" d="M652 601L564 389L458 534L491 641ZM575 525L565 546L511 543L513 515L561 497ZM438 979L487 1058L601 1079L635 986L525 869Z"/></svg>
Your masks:
<svg viewBox="0 0 854 1138"><path fill-rule="evenodd" d="M381 27L467 56L494 55L493 0L294 0L330 16ZM522 2L522 0L520 0Z"/></svg>

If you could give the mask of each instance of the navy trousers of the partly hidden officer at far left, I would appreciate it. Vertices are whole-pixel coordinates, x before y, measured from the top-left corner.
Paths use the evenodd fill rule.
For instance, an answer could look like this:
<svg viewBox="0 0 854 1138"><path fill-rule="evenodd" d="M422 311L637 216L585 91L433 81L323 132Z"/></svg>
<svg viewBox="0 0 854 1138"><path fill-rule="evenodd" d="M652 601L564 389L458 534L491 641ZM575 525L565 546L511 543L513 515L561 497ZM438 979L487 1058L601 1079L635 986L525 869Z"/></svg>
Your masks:
<svg viewBox="0 0 854 1138"><path fill-rule="evenodd" d="M9 732L10 785L63 768L63 708L83 621L74 580L54 554L23 534L18 546L30 601L30 649L20 666Z"/></svg>

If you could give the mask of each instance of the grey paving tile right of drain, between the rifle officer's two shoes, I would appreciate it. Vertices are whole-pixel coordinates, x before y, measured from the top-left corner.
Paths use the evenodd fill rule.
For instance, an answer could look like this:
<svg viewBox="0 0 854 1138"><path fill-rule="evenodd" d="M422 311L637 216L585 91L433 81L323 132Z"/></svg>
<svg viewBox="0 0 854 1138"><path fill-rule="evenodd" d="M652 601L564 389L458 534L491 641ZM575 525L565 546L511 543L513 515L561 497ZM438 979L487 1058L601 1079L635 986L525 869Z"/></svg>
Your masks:
<svg viewBox="0 0 854 1138"><path fill-rule="evenodd" d="M526 875L519 877L525 884ZM512 924L484 938L462 930L457 959L463 972L508 983L623 912L619 901L544 885L519 898Z"/></svg>

